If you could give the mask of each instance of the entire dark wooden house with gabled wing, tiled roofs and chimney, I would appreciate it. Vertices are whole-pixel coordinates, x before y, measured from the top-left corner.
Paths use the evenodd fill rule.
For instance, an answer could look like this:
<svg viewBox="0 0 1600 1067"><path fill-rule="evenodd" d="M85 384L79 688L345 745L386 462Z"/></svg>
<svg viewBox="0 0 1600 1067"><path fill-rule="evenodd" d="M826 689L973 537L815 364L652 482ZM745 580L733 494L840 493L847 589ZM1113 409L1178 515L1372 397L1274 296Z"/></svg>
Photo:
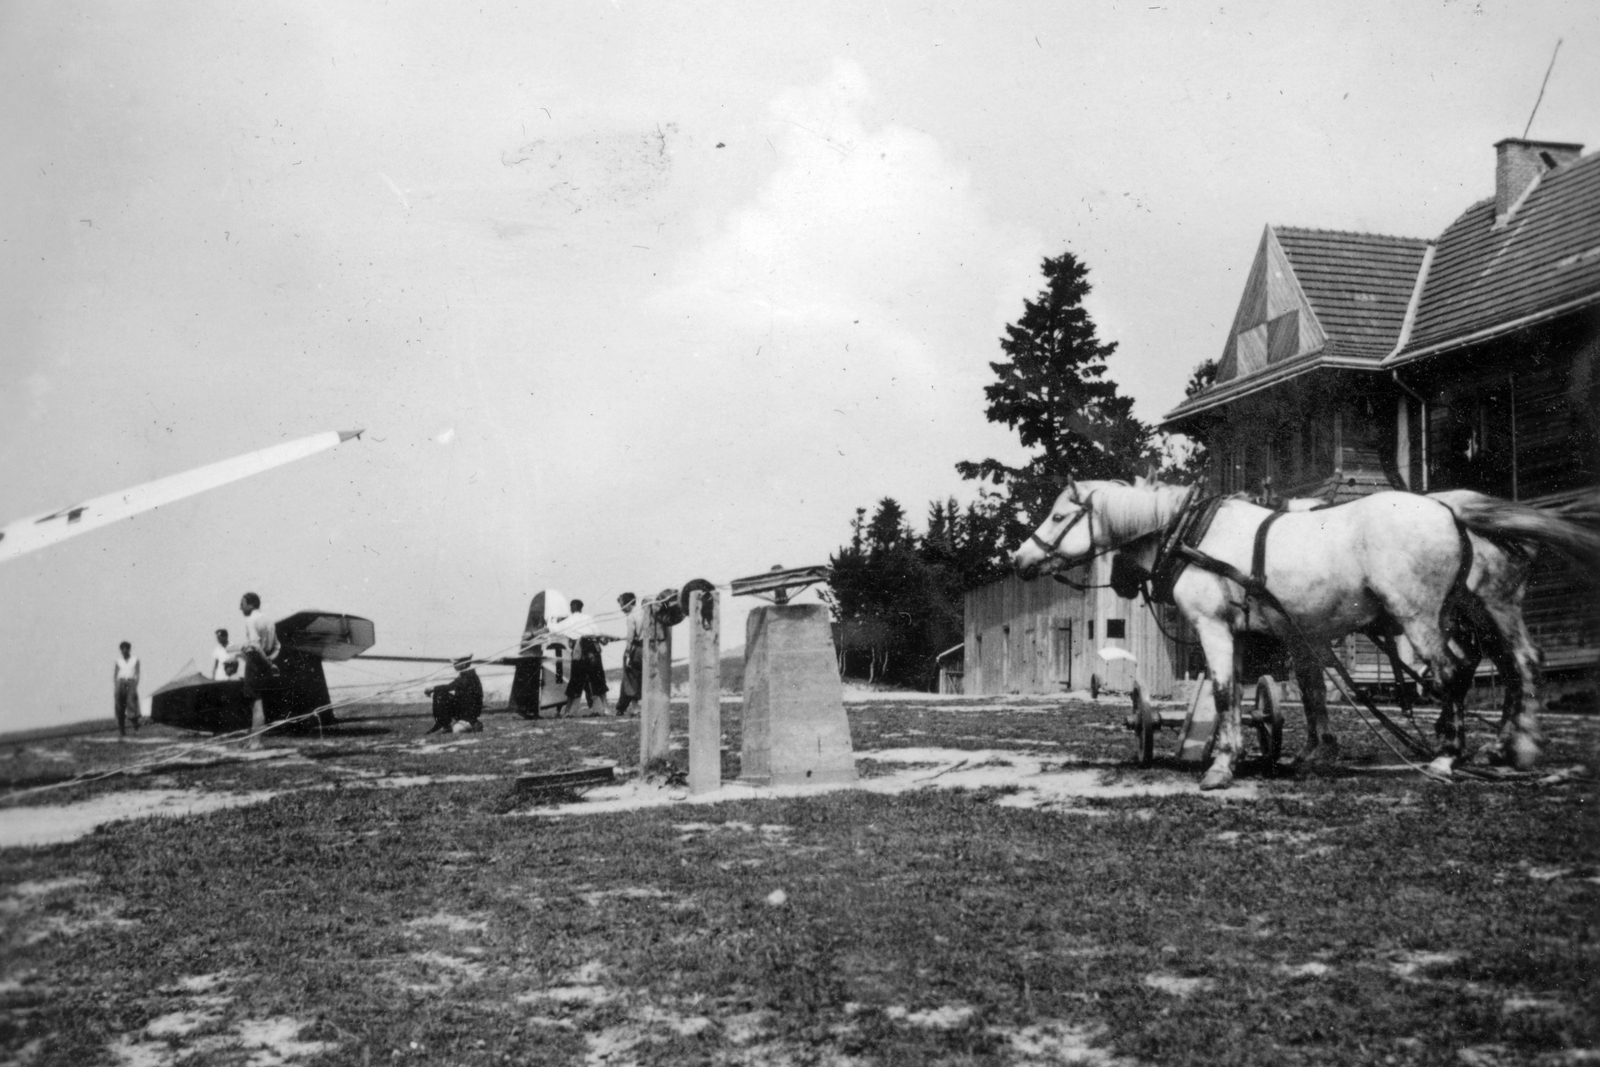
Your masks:
<svg viewBox="0 0 1600 1067"><path fill-rule="evenodd" d="M1595 490L1600 155L1581 152L1501 141L1494 195L1437 240L1269 226L1216 384L1162 429L1208 446L1216 493L1539 506ZM1586 576L1541 558L1526 614L1549 670L1600 662L1594 603ZM1381 678L1365 638L1344 654Z"/></svg>

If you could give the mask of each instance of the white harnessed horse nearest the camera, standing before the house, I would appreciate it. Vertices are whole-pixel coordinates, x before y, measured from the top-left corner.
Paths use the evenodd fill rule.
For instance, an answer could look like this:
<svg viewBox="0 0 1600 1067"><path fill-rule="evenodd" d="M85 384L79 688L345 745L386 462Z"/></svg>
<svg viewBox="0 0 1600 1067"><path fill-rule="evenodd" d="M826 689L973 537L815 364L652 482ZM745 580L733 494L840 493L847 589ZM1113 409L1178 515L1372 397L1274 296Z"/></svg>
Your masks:
<svg viewBox="0 0 1600 1067"><path fill-rule="evenodd" d="M1069 482L1011 561L1021 577L1034 577L1123 549L1149 566L1189 496L1189 488L1160 483ZM1482 651L1507 673L1501 744L1517 766L1533 765L1539 752L1533 696L1538 651L1522 622L1531 552L1517 545L1547 544L1587 560L1600 557L1600 536L1560 515L1480 493L1437 499L1374 493L1338 507L1278 515L1266 536L1261 577L1270 595L1262 597L1237 579L1251 576L1256 531L1270 515L1245 499L1224 501L1197 547L1232 576L1190 563L1173 584L1173 601L1194 627L1214 681L1218 731L1202 789L1232 784L1243 749L1235 633L1270 633L1293 659L1306 705L1306 747L1296 761L1336 752L1325 649L1333 640L1366 632L1403 633L1432 670L1445 704L1437 726L1445 741L1438 769L1448 771L1466 742L1456 705Z"/></svg>

